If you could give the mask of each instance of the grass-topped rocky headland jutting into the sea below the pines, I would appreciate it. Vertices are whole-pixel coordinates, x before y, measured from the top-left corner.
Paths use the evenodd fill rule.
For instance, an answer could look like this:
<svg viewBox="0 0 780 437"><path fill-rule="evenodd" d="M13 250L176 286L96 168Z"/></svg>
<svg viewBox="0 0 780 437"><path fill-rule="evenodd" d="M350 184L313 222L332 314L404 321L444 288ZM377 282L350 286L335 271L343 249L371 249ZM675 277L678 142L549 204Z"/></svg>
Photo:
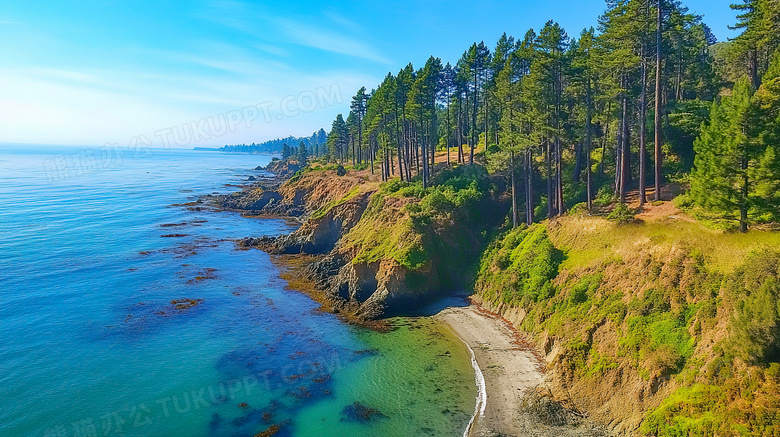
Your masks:
<svg viewBox="0 0 780 437"><path fill-rule="evenodd" d="M463 287L472 273L463 260L477 259L482 227L471 229L452 215L421 218L415 207L421 202L422 197L380 189L367 175L317 170L278 187L226 196L221 204L304 220L289 235L241 244L272 254L316 255L305 274L324 291L328 307L372 320L416 312Z"/></svg>

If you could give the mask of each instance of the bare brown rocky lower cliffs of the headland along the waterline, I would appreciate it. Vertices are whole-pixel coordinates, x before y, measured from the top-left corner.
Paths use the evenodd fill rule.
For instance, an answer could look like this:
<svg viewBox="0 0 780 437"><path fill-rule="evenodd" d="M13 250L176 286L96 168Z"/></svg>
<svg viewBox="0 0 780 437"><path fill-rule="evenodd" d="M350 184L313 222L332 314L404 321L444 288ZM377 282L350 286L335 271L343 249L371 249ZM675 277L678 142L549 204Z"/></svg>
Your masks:
<svg viewBox="0 0 780 437"><path fill-rule="evenodd" d="M247 217L300 221L301 226L291 234L251 236L238 244L271 255L312 256L299 274L319 289L321 293L316 294L327 301L321 303L327 303L332 312L367 322L414 312L444 295L433 265L413 272L392 259L355 262L354 254L340 247L339 242L363 217L378 183L360 175L337 177L333 171L312 172L296 183L285 183L290 181L285 179L289 172L280 173L278 166L256 170L271 171L275 177L257 177L242 191L210 195L202 201Z"/></svg>

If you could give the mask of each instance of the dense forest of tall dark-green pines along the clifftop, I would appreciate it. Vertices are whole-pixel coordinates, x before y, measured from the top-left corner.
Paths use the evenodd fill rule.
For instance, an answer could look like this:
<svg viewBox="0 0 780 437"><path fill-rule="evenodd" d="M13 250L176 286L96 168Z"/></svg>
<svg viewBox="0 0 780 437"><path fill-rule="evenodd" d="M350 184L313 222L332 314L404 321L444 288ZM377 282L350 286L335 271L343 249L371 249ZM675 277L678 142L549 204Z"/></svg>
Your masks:
<svg viewBox="0 0 780 437"><path fill-rule="evenodd" d="M690 186L679 203L715 226L776 222L780 6L731 8L731 41L680 1L608 0L576 37L551 20L454 65L432 56L358 90L308 153L425 188L446 151L507 176L515 225L630 195L642 208L668 183Z"/></svg>

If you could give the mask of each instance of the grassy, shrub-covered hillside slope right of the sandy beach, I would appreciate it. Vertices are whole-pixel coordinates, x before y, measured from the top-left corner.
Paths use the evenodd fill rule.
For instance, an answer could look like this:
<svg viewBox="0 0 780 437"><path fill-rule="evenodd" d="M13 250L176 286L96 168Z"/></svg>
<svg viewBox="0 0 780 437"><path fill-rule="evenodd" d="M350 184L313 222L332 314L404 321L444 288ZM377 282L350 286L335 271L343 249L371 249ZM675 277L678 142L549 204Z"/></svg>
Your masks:
<svg viewBox="0 0 780 437"><path fill-rule="evenodd" d="M567 217L498 238L476 291L624 431L780 435L780 234Z"/></svg>

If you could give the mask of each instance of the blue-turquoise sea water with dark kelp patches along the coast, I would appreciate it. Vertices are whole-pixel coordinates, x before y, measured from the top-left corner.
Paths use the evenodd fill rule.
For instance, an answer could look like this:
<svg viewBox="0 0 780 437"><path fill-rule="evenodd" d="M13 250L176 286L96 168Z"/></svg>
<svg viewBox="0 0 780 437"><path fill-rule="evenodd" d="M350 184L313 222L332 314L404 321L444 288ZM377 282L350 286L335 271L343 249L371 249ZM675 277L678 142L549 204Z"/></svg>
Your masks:
<svg viewBox="0 0 780 437"><path fill-rule="evenodd" d="M291 224L184 205L268 158L93 152L0 147L0 435L463 433L446 327L345 324L233 241Z"/></svg>

